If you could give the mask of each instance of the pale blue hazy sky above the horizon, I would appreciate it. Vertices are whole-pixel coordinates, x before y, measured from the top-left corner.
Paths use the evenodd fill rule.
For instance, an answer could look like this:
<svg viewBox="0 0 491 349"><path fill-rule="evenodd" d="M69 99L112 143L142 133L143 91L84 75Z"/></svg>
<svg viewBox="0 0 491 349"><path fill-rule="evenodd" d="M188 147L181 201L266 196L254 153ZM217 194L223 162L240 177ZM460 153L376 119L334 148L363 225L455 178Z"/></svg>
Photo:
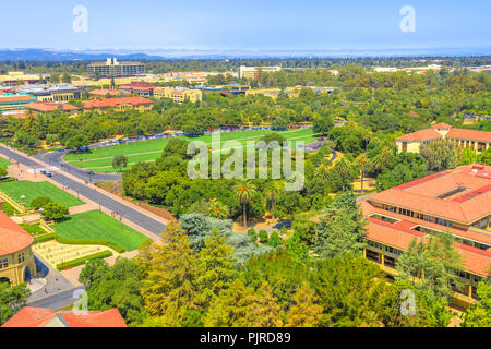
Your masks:
<svg viewBox="0 0 491 349"><path fill-rule="evenodd" d="M73 9L87 10L75 32ZM415 32L399 13L415 10ZM0 0L0 48L491 48L490 0ZM80 23L80 22L79 22Z"/></svg>

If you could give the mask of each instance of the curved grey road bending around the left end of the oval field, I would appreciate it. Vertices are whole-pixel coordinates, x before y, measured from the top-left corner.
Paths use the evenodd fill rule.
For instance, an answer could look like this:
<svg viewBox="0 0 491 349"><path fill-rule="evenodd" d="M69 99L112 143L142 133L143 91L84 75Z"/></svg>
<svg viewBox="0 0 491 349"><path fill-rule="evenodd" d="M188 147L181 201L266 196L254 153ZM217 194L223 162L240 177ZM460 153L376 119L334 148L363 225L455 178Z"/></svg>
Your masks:
<svg viewBox="0 0 491 349"><path fill-rule="evenodd" d="M69 172L76 178L86 181L88 183L97 183L97 182L110 182L110 183L120 183L122 180L121 174L115 173L98 173L92 172L84 169L81 169L76 166L70 165L63 159L65 152L41 152L35 156L35 158L48 163L51 166L56 166L58 168L63 169L63 171Z"/></svg>

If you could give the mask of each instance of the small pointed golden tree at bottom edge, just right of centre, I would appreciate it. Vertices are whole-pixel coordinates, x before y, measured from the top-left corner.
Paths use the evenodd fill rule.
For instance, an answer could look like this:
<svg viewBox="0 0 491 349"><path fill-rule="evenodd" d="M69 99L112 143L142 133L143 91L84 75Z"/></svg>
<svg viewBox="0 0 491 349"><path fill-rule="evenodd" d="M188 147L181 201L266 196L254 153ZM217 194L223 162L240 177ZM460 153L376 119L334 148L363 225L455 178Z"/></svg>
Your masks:
<svg viewBox="0 0 491 349"><path fill-rule="evenodd" d="M318 297L307 282L294 296L295 305L287 314L287 327L315 327L322 317L322 306L315 304Z"/></svg>

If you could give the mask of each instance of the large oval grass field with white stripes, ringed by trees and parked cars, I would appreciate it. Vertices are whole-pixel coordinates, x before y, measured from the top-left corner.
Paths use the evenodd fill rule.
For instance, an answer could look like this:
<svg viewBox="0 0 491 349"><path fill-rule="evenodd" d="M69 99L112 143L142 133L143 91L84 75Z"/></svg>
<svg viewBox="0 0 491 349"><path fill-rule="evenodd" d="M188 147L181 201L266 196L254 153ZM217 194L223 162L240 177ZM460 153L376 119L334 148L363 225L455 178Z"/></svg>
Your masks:
<svg viewBox="0 0 491 349"><path fill-rule="evenodd" d="M239 141L246 146L248 141L258 141L263 135L272 133L271 130L258 130L258 131L235 131L224 132L220 134L220 143L226 141ZM282 134L285 139L295 142L304 141L306 143L314 141L319 135L314 135L312 129L296 129L287 131L275 131ZM212 144L212 135L205 134L199 137L185 137L188 141L203 141L212 147L217 145ZM124 154L128 156L128 167L139 161L153 161L158 158L169 142L170 139L160 139L152 141L134 142L121 145L113 145L103 148L97 148L82 154L72 154L64 157L64 159L73 166L93 170L96 172L115 172L112 168L112 157L117 154Z"/></svg>

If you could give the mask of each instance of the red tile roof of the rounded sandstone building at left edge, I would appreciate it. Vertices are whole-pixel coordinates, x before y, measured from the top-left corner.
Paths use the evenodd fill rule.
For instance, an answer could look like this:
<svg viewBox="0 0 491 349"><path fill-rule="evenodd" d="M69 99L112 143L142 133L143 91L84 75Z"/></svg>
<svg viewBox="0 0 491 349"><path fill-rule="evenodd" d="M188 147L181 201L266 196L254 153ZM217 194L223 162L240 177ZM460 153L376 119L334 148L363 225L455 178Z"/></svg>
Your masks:
<svg viewBox="0 0 491 349"><path fill-rule="evenodd" d="M29 246L34 238L15 221L0 212L0 255L8 255Z"/></svg>

